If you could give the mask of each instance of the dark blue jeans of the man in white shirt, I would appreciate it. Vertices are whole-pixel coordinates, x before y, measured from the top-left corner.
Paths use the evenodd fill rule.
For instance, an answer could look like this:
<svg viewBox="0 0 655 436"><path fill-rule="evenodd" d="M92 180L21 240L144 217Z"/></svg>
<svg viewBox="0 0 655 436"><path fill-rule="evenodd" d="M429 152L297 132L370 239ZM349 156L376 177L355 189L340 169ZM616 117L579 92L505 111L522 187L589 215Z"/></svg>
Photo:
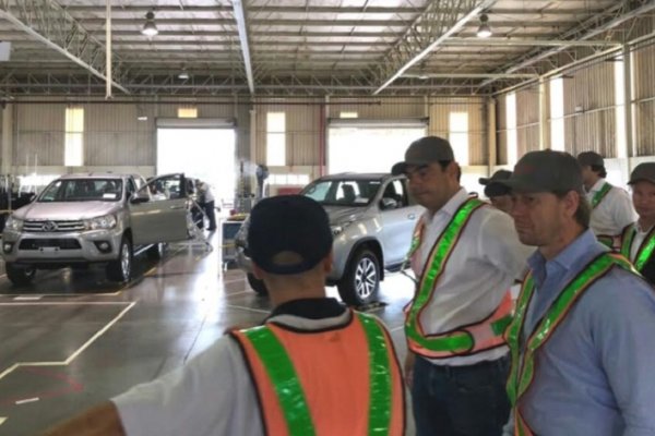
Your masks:
<svg viewBox="0 0 655 436"><path fill-rule="evenodd" d="M439 366L416 356L412 405L417 436L500 436L510 414L509 361Z"/></svg>

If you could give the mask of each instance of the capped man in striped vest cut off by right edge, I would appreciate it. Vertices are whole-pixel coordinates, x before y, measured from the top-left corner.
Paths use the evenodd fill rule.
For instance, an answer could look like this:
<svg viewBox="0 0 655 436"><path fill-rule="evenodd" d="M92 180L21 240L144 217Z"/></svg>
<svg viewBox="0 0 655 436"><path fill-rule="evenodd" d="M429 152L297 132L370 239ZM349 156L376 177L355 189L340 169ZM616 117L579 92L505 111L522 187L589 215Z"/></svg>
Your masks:
<svg viewBox="0 0 655 436"><path fill-rule="evenodd" d="M621 254L651 284L655 284L655 162L638 165L628 182L639 219L626 226L619 240Z"/></svg>

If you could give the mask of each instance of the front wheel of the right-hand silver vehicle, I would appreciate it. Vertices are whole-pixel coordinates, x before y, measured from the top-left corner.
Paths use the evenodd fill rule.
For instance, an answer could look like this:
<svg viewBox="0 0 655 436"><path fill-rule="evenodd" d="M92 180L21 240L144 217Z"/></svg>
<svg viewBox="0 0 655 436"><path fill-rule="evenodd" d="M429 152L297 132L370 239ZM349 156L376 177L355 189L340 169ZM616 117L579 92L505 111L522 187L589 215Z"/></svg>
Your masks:
<svg viewBox="0 0 655 436"><path fill-rule="evenodd" d="M376 254L367 249L357 251L336 288L348 305L360 306L376 301L380 290L380 262Z"/></svg>

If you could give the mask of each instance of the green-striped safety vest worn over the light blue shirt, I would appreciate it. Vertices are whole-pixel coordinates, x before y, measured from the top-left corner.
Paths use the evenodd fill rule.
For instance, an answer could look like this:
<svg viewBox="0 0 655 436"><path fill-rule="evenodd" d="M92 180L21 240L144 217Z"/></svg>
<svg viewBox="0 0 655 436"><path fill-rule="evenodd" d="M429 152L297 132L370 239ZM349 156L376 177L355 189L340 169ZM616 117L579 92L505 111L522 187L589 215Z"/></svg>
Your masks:
<svg viewBox="0 0 655 436"><path fill-rule="evenodd" d="M529 335L525 341L525 347L522 349L520 343L521 334L524 329L525 314L535 290L532 271L527 274L516 300L514 319L505 332L512 358L507 390L514 410L514 435L532 436L534 434L521 413L520 401L535 378L536 352L550 339L552 332L559 327L583 293L615 266L638 274L630 262L619 254L603 253L598 255L569 281Z"/></svg>

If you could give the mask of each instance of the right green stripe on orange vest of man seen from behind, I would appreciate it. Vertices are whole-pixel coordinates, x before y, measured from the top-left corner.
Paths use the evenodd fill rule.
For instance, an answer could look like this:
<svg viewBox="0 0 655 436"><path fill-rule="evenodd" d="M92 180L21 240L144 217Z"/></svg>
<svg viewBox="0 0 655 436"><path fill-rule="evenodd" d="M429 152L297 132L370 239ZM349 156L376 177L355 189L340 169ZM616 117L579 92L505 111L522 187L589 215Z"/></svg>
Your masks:
<svg viewBox="0 0 655 436"><path fill-rule="evenodd" d="M358 313L369 348L369 435L388 435L391 425L392 377L389 348L382 327L369 315Z"/></svg>

